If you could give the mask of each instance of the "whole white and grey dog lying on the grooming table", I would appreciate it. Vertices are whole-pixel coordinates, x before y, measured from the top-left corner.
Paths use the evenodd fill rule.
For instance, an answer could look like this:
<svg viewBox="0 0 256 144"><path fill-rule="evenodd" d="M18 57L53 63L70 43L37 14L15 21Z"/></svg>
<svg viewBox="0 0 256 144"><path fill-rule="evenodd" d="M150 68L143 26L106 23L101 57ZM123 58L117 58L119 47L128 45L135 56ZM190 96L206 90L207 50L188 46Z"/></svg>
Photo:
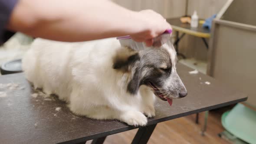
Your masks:
<svg viewBox="0 0 256 144"><path fill-rule="evenodd" d="M81 43L36 39L22 61L35 88L58 95L73 113L88 118L143 126L146 116L155 116L155 95L169 103L187 95L176 72L175 49L166 44L135 52L115 38Z"/></svg>

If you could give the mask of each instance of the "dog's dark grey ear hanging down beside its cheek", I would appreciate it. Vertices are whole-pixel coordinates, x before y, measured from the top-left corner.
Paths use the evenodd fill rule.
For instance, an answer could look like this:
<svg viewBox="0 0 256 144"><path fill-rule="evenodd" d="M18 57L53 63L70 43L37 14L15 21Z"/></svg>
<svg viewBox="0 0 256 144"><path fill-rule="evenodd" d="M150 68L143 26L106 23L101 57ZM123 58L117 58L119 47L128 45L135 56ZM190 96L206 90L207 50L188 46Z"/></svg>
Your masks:
<svg viewBox="0 0 256 144"><path fill-rule="evenodd" d="M127 91L132 95L137 94L140 87L140 81L141 81L141 70L137 68L135 70L135 73L133 74L131 81L128 83Z"/></svg>

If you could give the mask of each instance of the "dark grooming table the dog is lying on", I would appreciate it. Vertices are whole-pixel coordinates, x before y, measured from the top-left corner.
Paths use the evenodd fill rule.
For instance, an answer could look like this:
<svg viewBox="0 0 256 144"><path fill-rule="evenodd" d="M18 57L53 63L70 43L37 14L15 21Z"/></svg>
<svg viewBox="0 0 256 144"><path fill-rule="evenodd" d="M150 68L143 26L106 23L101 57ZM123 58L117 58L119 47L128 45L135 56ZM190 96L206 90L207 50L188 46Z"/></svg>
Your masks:
<svg viewBox="0 0 256 144"><path fill-rule="evenodd" d="M177 71L188 91L187 97L174 100L171 107L167 101L157 98L156 116L148 119L146 127L139 128L132 144L146 144L160 122L246 101L247 95L207 75L189 74L191 70L177 64ZM210 85L205 84L206 81ZM23 73L0 76L0 83L19 84L14 90L0 88L0 141L5 144L84 144L92 139L93 144L102 144L108 135L135 129L115 120L77 117L54 96L31 96L33 88Z"/></svg>

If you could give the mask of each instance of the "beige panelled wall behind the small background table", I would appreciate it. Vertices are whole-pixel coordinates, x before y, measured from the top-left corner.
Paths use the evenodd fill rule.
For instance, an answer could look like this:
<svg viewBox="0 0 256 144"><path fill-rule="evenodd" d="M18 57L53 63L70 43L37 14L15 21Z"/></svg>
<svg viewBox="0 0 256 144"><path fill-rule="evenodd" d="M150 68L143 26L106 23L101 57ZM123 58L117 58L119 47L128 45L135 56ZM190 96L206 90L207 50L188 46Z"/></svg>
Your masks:
<svg viewBox="0 0 256 144"><path fill-rule="evenodd" d="M185 15L186 0L112 0L130 10L152 9L162 14L165 18L180 17ZM188 0L187 14L191 15L197 10L200 18L208 18L217 13L227 0ZM184 36L179 43L180 52L188 58L206 60L207 49L202 39L194 36Z"/></svg>

